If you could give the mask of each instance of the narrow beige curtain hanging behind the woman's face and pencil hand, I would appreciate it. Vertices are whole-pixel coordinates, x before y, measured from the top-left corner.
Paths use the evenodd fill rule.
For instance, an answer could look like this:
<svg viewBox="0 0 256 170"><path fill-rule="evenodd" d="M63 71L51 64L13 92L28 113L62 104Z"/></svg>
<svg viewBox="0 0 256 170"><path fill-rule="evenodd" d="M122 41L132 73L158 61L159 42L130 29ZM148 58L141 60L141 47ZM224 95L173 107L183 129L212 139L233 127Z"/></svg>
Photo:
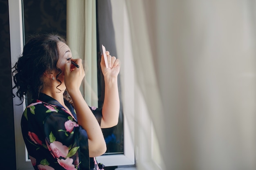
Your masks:
<svg viewBox="0 0 256 170"><path fill-rule="evenodd" d="M81 91L89 106L98 106L96 1L67 0L67 44L74 58L83 60Z"/></svg>

